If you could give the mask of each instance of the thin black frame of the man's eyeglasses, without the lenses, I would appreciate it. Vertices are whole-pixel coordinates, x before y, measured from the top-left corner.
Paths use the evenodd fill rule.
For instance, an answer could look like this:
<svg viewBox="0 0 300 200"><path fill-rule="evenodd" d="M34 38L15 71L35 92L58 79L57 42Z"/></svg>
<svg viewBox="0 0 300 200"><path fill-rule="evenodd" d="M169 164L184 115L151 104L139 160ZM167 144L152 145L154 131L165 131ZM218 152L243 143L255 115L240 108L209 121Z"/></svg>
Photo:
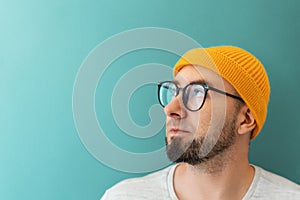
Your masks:
<svg viewBox="0 0 300 200"><path fill-rule="evenodd" d="M202 83L202 82L191 82L191 83L187 84L186 86L184 86L183 88L180 88L180 87L178 87L177 84L174 83L173 81L163 81L163 82L160 82L160 83L157 84L157 86L158 86L158 90L157 90L157 92L158 92L158 101L159 101L159 103L160 103L160 105L161 105L162 107L165 107L166 105L163 105L163 103L161 102L161 100L160 100L160 98L159 98L159 97L160 97L160 88L161 88L161 86L162 86L163 84L165 84L165 83L171 83L171 84L175 85L175 87L176 87L175 97L177 97L178 94L179 94L179 91L182 90L182 101L183 101L183 104L184 104L184 106L185 106L186 109L188 109L189 111L192 111L192 112L196 112L196 111L198 111L198 110L200 110L200 109L202 108L202 106L203 106L204 103L205 103L206 95L207 95L207 91L208 91L208 90L212 90L212 91L215 91L215 92L217 92L217 93L220 93L220 94L229 96L229 97L231 97L231 98L237 99L237 100L239 100L239 101L241 101L241 102L244 103L244 100L243 100L241 97L238 97L238 96L235 96L235 95L233 95L233 94L230 94L230 93L224 92L224 91L222 91L222 90L219 90L219 89L217 89L217 88L208 86L208 85L206 85L205 83ZM185 91L186 91L186 89L187 89L189 86L191 86L191 85L201 85L201 86L204 88L204 96L203 96L202 104L200 105L200 107L199 107L198 109L195 109L195 110L192 110L192 109L190 109L190 108L187 107L187 98L186 98L186 93L185 93Z"/></svg>

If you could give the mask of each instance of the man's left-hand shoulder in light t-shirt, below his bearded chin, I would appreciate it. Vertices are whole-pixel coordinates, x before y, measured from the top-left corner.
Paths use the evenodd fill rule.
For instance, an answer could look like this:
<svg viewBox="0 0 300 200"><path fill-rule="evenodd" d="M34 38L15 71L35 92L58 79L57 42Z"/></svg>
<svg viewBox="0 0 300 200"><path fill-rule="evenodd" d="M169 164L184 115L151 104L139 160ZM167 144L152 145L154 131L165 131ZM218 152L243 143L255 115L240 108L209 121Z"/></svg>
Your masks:
<svg viewBox="0 0 300 200"><path fill-rule="evenodd" d="M168 193L169 166L143 177L123 180L108 189L102 199L153 199L153 195Z"/></svg>

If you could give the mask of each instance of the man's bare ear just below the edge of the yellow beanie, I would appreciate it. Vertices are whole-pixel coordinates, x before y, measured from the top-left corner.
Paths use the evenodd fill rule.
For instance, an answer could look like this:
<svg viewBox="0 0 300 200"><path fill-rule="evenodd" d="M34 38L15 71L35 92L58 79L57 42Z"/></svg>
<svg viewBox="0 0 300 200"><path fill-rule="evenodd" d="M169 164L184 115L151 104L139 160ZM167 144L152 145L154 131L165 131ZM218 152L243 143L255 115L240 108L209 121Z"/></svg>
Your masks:
<svg viewBox="0 0 300 200"><path fill-rule="evenodd" d="M252 133L256 127L256 121L248 106L242 106L238 116L238 134Z"/></svg>

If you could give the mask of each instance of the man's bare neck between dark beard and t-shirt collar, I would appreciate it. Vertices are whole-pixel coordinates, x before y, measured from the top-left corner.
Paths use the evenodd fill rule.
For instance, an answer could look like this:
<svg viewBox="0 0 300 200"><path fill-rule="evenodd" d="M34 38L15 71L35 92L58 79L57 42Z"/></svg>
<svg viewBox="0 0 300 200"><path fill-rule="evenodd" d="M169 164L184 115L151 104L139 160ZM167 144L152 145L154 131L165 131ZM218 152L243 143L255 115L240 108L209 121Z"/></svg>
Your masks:
<svg viewBox="0 0 300 200"><path fill-rule="evenodd" d="M224 152L204 163L179 164L174 188L179 199L242 199L254 177L247 156ZM244 158L244 159L241 159Z"/></svg>

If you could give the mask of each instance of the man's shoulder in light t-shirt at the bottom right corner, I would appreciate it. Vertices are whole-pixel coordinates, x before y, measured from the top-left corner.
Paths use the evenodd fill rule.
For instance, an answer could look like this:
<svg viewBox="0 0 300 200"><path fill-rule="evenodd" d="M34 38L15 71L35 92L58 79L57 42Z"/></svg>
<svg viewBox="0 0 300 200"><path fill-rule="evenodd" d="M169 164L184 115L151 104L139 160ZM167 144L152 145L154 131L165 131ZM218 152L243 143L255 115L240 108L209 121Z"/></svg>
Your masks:
<svg viewBox="0 0 300 200"><path fill-rule="evenodd" d="M282 176L254 166L257 173L256 194L275 199L300 199L300 186Z"/></svg>

